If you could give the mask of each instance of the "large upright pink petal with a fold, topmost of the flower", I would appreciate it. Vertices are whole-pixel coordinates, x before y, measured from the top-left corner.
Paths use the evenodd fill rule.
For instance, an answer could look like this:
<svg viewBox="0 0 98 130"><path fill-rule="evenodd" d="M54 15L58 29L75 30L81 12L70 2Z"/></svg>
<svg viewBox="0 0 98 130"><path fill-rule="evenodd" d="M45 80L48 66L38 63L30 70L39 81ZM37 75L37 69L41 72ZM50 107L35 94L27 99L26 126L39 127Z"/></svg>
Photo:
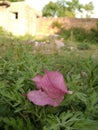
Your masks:
<svg viewBox="0 0 98 130"><path fill-rule="evenodd" d="M41 81L43 90L51 97L57 98L67 93L66 84L61 73L57 71L46 71Z"/></svg>

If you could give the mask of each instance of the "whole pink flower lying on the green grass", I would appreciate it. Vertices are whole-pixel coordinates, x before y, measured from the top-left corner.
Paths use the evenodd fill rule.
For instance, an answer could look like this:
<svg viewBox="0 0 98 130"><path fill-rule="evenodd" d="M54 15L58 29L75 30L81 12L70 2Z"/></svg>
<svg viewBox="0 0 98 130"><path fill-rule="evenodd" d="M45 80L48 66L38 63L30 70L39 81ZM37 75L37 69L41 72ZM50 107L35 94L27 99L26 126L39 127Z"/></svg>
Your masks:
<svg viewBox="0 0 98 130"><path fill-rule="evenodd" d="M59 106L65 94L72 94L68 91L64 78L60 72L45 70L45 75L37 75L32 79L37 90L27 94L27 98L36 105Z"/></svg>

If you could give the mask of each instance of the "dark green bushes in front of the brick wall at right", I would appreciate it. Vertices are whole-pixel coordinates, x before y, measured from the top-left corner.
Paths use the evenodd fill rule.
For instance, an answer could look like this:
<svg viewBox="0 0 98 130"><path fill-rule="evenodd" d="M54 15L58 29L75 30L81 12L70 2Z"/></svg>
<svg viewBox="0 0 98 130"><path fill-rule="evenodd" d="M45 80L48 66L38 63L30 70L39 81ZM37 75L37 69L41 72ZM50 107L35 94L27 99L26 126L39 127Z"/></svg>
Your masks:
<svg viewBox="0 0 98 130"><path fill-rule="evenodd" d="M98 43L98 28L91 29L89 31L77 27L70 28L68 30L62 28L58 34L61 37L64 37L65 40L84 42L83 46L87 46L85 45L86 43L94 43L96 45Z"/></svg>

